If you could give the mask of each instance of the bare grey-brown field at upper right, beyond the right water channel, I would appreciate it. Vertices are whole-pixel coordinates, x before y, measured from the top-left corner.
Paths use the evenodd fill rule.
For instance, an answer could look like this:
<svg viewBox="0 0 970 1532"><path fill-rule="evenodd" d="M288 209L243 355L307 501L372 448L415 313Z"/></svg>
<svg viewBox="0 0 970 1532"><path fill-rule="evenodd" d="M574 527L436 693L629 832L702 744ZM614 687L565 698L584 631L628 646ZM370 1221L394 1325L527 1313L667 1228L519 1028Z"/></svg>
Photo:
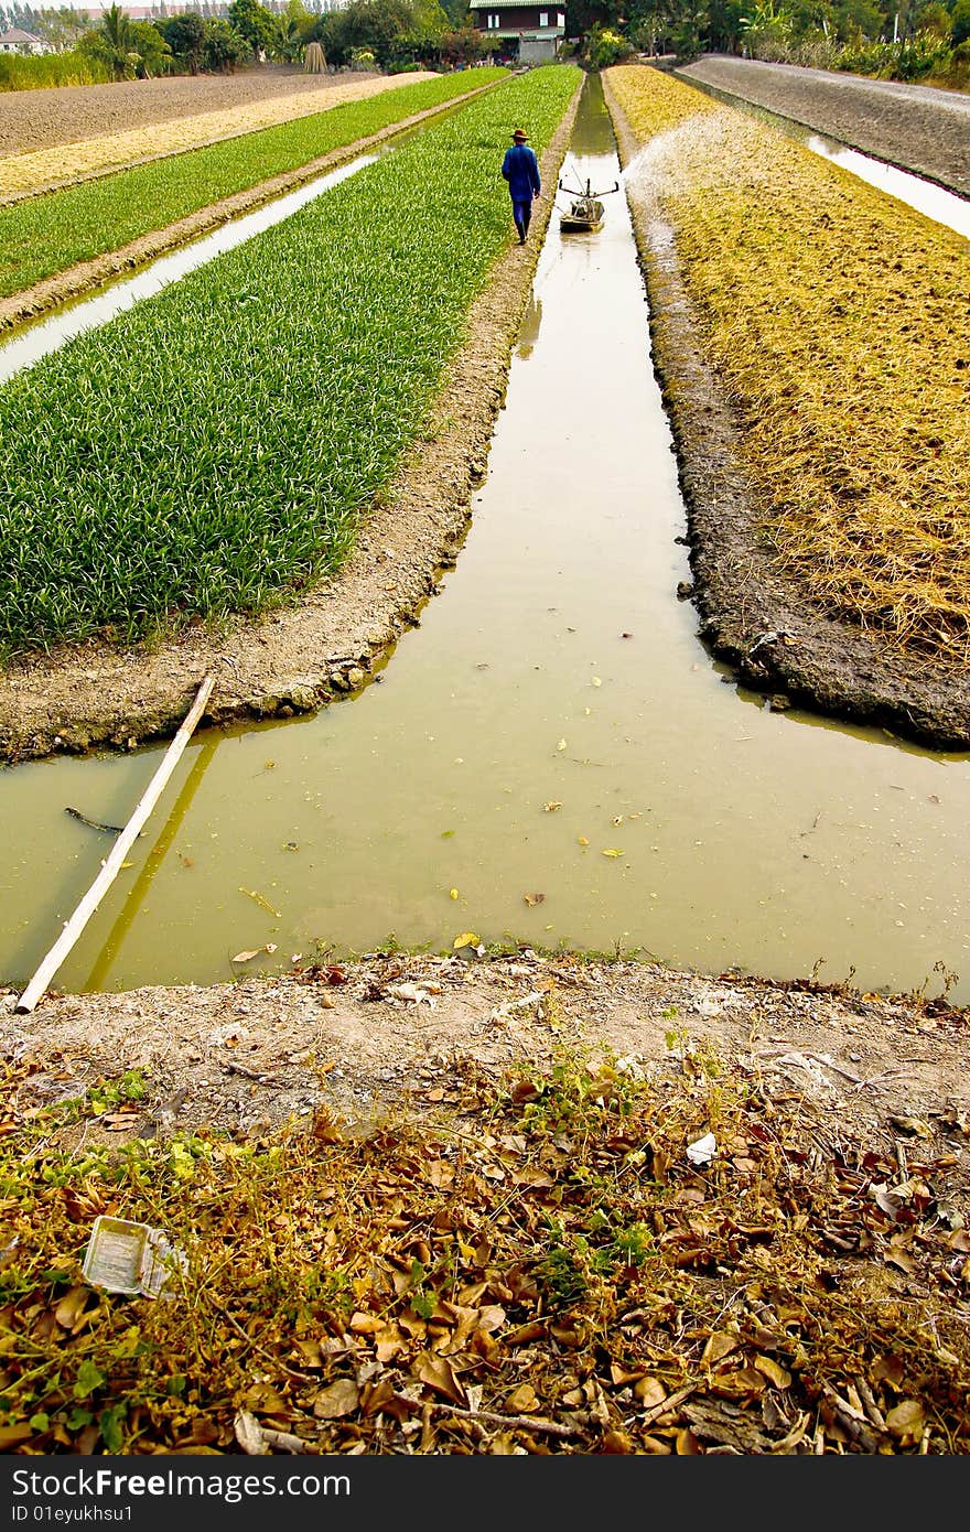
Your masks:
<svg viewBox="0 0 970 1532"><path fill-rule="evenodd" d="M970 95L722 55L677 74L970 196Z"/></svg>

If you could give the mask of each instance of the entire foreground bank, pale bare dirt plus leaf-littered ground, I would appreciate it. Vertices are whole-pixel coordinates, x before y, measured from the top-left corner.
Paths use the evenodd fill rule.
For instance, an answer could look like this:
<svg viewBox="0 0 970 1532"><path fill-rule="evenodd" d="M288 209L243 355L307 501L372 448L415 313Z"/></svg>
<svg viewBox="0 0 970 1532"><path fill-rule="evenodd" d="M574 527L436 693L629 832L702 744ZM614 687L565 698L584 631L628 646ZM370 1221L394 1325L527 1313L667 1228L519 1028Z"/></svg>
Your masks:
<svg viewBox="0 0 970 1532"><path fill-rule="evenodd" d="M8 1019L5 1451L967 1451L965 1016L480 959Z"/></svg>

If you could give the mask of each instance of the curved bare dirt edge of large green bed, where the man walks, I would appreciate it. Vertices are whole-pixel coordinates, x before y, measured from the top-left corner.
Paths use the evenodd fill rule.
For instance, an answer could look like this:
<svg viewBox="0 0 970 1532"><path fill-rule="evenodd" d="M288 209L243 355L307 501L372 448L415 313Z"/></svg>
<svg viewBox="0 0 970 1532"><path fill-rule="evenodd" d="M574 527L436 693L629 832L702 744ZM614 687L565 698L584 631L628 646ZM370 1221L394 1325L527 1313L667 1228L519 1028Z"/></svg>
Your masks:
<svg viewBox="0 0 970 1532"><path fill-rule="evenodd" d="M578 101L579 92L542 156L546 185L556 184ZM199 625L155 650L92 643L11 663L0 676L0 754L23 760L162 738L205 674L216 677L208 723L310 712L362 686L414 625L464 536L550 214L552 198L542 196L529 245L512 245L495 264L424 437L336 579L299 608L234 620L219 634Z"/></svg>

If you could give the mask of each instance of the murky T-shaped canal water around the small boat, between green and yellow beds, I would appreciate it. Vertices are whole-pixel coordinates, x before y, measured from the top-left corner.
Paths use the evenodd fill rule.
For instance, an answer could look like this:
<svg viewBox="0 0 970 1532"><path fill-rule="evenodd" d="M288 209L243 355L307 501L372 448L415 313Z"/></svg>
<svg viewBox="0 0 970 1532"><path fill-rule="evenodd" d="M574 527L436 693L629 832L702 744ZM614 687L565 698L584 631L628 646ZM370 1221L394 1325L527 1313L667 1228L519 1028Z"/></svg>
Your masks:
<svg viewBox="0 0 970 1532"><path fill-rule="evenodd" d="M567 169L618 178L599 97ZM945 964L970 999L967 758L769 712L676 599L683 509L627 208L605 204L595 236L553 219L474 527L420 628L357 699L193 743L61 987L472 931L929 993ZM110 844L64 807L123 823L158 758L0 774L0 973L28 977Z"/></svg>

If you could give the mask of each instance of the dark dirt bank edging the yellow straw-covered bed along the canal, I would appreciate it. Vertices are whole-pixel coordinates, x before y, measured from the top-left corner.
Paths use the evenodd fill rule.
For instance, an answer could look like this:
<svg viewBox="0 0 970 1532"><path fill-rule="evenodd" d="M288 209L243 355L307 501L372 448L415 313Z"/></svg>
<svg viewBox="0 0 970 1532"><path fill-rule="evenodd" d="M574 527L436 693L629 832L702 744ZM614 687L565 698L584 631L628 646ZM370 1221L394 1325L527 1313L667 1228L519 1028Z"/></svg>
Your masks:
<svg viewBox="0 0 970 1532"><path fill-rule="evenodd" d="M621 162L641 149L608 78ZM786 578L765 542L765 512L742 466L740 426L711 368L687 293L674 233L637 181L631 216L650 294L653 354L688 510L700 633L772 705L792 702L883 726L939 749L970 745L970 673L892 648L878 634L826 616Z"/></svg>

